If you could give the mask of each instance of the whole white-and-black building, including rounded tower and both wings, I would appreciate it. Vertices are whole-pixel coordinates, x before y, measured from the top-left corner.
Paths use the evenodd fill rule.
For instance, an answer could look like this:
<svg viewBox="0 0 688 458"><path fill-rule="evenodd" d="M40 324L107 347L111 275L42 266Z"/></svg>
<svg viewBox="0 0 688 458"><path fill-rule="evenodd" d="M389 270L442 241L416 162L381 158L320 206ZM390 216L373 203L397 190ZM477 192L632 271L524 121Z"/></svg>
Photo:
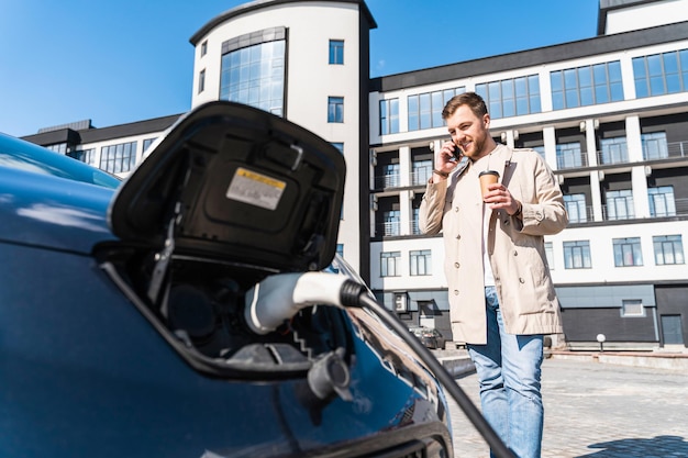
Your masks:
<svg viewBox="0 0 688 458"><path fill-rule="evenodd" d="M304 125L347 163L340 252L409 324L451 338L443 244L418 211L456 93L488 103L496 141L555 172L568 227L546 237L573 348L684 347L688 338L688 1L600 0L598 35L369 78L365 1L255 1L211 19L192 105L223 99ZM178 115L27 139L125 176Z"/></svg>

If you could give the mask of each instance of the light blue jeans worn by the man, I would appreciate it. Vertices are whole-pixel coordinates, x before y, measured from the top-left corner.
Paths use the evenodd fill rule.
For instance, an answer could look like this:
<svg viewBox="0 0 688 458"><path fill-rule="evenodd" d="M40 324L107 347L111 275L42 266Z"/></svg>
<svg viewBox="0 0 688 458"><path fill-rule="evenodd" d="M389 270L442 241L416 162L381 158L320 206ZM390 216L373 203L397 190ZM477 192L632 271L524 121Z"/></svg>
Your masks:
<svg viewBox="0 0 688 458"><path fill-rule="evenodd" d="M519 458L540 457L542 335L507 334L495 287L485 288L487 345L468 345L480 382L482 415Z"/></svg>

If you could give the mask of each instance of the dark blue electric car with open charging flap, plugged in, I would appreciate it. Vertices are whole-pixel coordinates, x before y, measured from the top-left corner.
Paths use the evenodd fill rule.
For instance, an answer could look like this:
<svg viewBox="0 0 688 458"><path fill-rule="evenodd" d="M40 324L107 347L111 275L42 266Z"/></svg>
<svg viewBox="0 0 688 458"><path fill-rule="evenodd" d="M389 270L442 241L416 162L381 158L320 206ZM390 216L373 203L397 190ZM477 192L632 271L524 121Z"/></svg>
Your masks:
<svg viewBox="0 0 688 458"><path fill-rule="evenodd" d="M344 178L230 102L124 181L0 135L0 456L452 457L436 377L348 306Z"/></svg>

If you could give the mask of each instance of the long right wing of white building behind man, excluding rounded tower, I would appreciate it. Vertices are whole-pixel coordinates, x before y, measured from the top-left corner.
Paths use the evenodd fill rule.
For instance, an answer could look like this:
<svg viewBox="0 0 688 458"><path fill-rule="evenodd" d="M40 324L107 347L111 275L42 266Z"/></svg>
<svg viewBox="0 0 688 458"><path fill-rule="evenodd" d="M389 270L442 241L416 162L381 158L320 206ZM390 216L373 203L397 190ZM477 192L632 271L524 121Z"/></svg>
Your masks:
<svg viewBox="0 0 688 458"><path fill-rule="evenodd" d="M683 346L687 5L602 1L596 37L371 80L373 290L409 322L450 332L442 238L420 234L418 216L448 138L442 108L476 91L495 139L536 149L565 194L570 224L546 248L566 342Z"/></svg>

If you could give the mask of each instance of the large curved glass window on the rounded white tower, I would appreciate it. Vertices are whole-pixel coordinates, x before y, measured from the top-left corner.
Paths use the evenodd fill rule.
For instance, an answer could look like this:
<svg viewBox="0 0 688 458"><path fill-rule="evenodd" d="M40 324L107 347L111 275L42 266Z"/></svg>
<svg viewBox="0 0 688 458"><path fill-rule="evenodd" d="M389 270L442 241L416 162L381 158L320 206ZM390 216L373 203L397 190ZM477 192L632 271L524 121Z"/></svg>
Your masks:
<svg viewBox="0 0 688 458"><path fill-rule="evenodd" d="M220 100L282 116L286 43L285 27L266 29L224 42Z"/></svg>

